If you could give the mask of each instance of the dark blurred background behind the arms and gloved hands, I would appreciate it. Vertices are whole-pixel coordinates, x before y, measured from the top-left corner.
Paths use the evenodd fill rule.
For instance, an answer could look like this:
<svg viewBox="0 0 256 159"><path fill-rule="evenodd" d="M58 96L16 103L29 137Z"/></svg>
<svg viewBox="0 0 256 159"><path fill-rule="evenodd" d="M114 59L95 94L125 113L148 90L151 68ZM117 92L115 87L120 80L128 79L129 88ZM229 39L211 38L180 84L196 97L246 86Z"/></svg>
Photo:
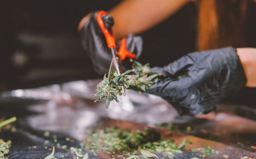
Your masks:
<svg viewBox="0 0 256 159"><path fill-rule="evenodd" d="M3 1L0 5L0 91L32 88L98 76L77 33L91 11L110 10L121 0ZM139 62L164 66L195 51L197 7L188 3L172 17L140 34ZM254 88L232 101L255 105Z"/></svg>

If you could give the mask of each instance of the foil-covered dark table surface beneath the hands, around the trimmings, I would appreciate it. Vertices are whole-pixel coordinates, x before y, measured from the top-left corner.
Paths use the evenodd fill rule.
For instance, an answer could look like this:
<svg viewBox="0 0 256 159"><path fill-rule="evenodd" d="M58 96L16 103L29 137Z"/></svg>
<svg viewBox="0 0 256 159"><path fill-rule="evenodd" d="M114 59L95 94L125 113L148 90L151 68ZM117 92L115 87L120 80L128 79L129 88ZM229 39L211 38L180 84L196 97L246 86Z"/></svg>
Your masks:
<svg viewBox="0 0 256 159"><path fill-rule="evenodd" d="M253 147L256 146L256 109L224 103L207 115L178 117L175 110L162 99L128 92L130 100L123 98L124 104L112 103L110 109L105 110L103 102L93 102L97 82L77 81L2 92L0 118L17 117L15 123L0 131L0 139L12 141L6 158L45 158L53 146L56 158L59 155L76 158L69 148L79 148L87 132L98 123L132 130L149 126L162 137L175 139L177 143L184 138L191 140L193 144L186 146L183 153L176 154L175 158L224 158L224 154L228 158L256 158ZM162 122L172 122L177 130L155 126L155 123ZM49 131L49 136L45 135L46 131ZM62 149L62 145L67 145L67 148ZM203 156L201 152L191 152L192 147L208 146L220 153ZM104 152L97 156L88 150L83 150L84 153L89 153L89 158L111 158Z"/></svg>

